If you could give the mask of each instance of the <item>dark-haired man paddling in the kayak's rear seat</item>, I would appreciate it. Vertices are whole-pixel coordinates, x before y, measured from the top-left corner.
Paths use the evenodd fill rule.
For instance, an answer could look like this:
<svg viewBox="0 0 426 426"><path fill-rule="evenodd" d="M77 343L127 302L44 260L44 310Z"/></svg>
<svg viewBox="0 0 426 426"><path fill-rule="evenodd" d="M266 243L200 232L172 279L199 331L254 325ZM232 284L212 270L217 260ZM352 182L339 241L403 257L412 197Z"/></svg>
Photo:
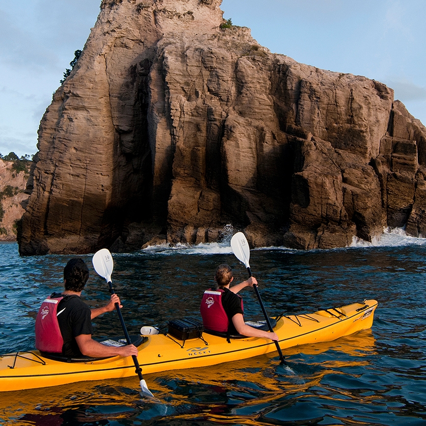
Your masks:
<svg viewBox="0 0 426 426"><path fill-rule="evenodd" d="M93 318L115 309L120 305L117 295L111 295L107 305L90 309L80 299L89 278L89 270L84 260L71 259L64 268L64 288L62 293L54 293L45 299L36 318L36 348L43 353L62 354L66 357L109 357L138 355L132 345L122 347L105 346L92 339ZM122 307L120 305L120 307Z"/></svg>

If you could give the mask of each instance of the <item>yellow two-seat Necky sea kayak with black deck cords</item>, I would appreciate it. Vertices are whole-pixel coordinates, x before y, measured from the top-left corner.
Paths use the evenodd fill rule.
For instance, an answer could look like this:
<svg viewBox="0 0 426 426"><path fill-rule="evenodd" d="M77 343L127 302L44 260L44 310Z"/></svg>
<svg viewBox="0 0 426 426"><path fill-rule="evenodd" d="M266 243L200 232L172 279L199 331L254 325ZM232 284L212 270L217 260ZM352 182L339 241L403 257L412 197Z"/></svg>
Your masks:
<svg viewBox="0 0 426 426"><path fill-rule="evenodd" d="M377 301L365 300L339 308L275 318L274 331L281 349L307 343L335 340L371 327ZM139 337L139 336L138 336ZM182 337L185 338L185 337ZM106 344L125 344L113 339ZM231 338L209 334L180 340L176 335L141 336L138 361L143 374L204 367L251 358L277 350L273 341L257 337ZM52 359L38 351L0 356L0 391L35 389L88 380L124 378L135 375L131 357L78 360Z"/></svg>

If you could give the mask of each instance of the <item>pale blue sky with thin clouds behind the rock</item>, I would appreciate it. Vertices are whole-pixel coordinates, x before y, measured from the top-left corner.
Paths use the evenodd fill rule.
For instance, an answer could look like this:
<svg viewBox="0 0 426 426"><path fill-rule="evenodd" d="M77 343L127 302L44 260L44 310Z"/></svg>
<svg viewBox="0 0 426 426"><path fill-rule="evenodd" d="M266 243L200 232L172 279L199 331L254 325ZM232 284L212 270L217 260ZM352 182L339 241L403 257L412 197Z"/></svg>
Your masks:
<svg viewBox="0 0 426 426"><path fill-rule="evenodd" d="M40 120L99 6L0 0L1 154L36 153ZM223 0L221 9L272 52L385 83L426 125L425 0Z"/></svg>

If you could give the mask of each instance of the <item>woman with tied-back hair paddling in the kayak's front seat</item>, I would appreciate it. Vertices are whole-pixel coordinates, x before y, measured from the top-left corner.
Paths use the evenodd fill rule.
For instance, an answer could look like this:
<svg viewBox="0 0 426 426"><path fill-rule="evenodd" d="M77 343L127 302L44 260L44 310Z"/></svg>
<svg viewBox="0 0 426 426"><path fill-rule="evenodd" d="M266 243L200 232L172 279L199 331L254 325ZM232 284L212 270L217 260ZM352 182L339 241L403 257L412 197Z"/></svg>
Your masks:
<svg viewBox="0 0 426 426"><path fill-rule="evenodd" d="M219 265L215 281L217 289L204 291L201 301L201 316L204 328L221 333L242 334L247 337L266 337L278 341L276 333L250 327L244 322L243 299L237 293L245 287L257 285L257 280L250 277L242 283L229 287L234 277L232 269L226 263Z"/></svg>

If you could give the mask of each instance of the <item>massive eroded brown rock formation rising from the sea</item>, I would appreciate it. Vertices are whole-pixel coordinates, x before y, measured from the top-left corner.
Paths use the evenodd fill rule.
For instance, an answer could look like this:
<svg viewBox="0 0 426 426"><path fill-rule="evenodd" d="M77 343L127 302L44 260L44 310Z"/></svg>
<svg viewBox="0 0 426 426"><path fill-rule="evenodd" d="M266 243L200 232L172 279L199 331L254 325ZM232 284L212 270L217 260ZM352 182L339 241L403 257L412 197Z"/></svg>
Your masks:
<svg viewBox="0 0 426 426"><path fill-rule="evenodd" d="M21 254L426 235L426 129L365 77L299 64L220 0L103 1L39 129Z"/></svg>

